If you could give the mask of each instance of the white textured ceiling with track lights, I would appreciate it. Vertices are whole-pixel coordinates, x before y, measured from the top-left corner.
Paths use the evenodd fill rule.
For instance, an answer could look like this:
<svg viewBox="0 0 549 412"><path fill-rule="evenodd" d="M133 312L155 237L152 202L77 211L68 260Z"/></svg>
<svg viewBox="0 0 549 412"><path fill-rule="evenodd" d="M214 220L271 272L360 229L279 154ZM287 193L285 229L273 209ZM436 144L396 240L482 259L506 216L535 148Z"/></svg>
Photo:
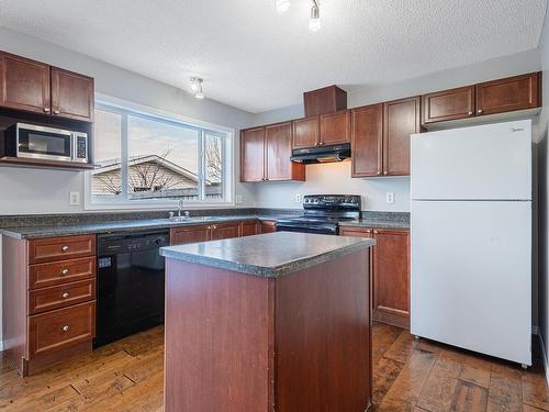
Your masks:
<svg viewBox="0 0 549 412"><path fill-rule="evenodd" d="M0 25L250 112L538 45L546 0L0 0Z"/></svg>

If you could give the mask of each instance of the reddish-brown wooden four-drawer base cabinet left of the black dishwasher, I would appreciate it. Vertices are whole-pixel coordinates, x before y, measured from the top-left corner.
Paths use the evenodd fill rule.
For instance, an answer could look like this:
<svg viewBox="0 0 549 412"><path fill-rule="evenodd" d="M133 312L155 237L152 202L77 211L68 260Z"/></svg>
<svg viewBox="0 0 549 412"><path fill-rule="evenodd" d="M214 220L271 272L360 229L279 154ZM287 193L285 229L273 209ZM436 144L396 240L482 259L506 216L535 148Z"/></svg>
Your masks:
<svg viewBox="0 0 549 412"><path fill-rule="evenodd" d="M91 350L94 255L94 235L31 241L3 236L2 338L21 375Z"/></svg>

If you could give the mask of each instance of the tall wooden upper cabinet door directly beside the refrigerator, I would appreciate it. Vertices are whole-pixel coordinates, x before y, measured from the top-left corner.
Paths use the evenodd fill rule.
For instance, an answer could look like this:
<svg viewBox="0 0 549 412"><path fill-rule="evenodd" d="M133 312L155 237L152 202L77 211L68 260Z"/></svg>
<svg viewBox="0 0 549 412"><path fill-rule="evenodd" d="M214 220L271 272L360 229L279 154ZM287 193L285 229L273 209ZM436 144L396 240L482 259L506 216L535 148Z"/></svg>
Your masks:
<svg viewBox="0 0 549 412"><path fill-rule="evenodd" d="M383 175L410 175L410 135L421 132L421 99L383 103Z"/></svg>

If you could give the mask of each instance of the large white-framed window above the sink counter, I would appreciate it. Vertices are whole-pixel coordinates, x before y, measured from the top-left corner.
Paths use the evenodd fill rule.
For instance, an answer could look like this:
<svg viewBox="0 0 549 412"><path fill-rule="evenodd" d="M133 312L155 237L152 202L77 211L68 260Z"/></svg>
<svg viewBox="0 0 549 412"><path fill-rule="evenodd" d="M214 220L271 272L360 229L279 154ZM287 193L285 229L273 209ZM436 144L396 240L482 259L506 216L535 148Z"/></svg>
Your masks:
<svg viewBox="0 0 549 412"><path fill-rule="evenodd" d="M99 103L92 203L229 202L232 133Z"/></svg>

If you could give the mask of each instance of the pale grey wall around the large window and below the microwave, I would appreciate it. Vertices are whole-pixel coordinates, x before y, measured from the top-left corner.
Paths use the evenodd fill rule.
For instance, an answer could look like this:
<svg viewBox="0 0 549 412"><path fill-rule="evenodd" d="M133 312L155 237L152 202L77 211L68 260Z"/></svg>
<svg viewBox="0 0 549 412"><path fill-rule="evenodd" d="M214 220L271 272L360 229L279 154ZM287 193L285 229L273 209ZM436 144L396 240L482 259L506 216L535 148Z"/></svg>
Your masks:
<svg viewBox="0 0 549 412"><path fill-rule="evenodd" d="M249 112L209 99L194 99L180 89L4 27L0 27L0 48L91 76L96 79L97 92L233 127L236 135L239 129L248 126L254 120ZM188 79L182 78L181 85L184 87ZM235 152L238 154L238 151ZM238 158L235 162L235 172L238 170L237 165ZM69 205L69 192L80 191L83 197L83 172L2 167L0 214L81 212L82 205ZM253 193L247 187L237 185L236 190L243 194L243 207L253 204Z"/></svg>

